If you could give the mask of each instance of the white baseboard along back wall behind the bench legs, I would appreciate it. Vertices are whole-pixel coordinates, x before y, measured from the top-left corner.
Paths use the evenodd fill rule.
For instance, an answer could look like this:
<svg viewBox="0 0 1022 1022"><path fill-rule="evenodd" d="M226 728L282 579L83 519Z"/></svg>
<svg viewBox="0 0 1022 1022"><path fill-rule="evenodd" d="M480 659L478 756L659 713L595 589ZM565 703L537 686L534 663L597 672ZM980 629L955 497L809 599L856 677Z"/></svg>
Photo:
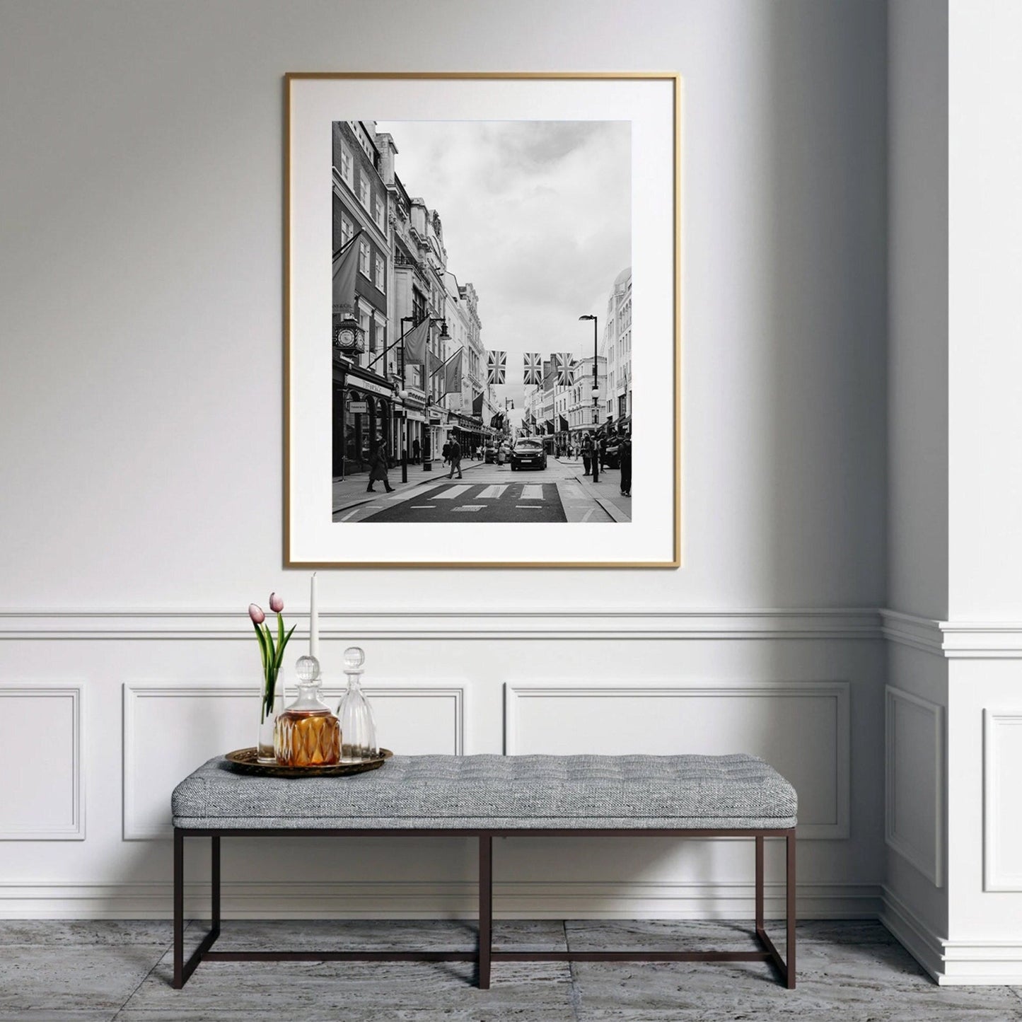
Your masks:
<svg viewBox="0 0 1022 1022"><path fill-rule="evenodd" d="M0 919L169 919L170 883L0 884ZM474 919L475 883L224 882L233 919ZM799 884L799 919L876 919L874 884ZM185 913L208 915L208 884L185 885ZM783 883L765 885L765 911L783 919ZM750 919L753 888L734 883L510 882L494 884L503 919Z"/></svg>

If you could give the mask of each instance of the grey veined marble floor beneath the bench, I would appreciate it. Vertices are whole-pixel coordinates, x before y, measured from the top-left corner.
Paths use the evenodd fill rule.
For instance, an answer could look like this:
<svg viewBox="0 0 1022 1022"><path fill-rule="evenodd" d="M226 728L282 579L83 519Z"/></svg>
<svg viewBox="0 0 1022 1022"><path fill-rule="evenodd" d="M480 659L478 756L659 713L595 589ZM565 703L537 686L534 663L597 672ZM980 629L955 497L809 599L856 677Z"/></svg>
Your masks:
<svg viewBox="0 0 1022 1022"><path fill-rule="evenodd" d="M753 946L746 926L498 921L495 946L743 948ZM189 946L202 932L189 925ZM336 962L211 962L174 990L168 922L8 920L0 921L0 1020L1022 1022L1022 987L938 987L879 923L806 922L798 937L790 991L758 963L497 963L492 988L478 990L471 964ZM228 920L217 947L471 949L474 941L470 922Z"/></svg>

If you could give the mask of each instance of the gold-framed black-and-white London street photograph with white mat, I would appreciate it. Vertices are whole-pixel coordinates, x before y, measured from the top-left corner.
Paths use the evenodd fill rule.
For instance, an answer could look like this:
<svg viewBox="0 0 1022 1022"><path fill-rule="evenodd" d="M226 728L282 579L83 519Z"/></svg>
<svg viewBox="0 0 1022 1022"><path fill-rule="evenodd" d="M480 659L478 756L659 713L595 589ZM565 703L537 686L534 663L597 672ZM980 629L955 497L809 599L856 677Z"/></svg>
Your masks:
<svg viewBox="0 0 1022 1022"><path fill-rule="evenodd" d="M285 563L678 567L680 78L286 91Z"/></svg>

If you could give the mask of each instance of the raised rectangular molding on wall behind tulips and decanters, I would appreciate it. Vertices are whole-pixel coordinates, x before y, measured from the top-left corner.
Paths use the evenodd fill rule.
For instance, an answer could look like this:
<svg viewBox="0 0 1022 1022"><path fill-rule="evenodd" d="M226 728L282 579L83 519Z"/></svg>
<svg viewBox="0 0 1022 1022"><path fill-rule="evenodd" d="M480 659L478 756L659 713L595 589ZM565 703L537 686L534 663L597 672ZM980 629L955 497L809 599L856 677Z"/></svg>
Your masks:
<svg viewBox="0 0 1022 1022"><path fill-rule="evenodd" d="M339 699L344 691L343 686L325 685L323 694L328 701ZM363 691L370 698L374 696L396 696L411 698L447 698L454 700L454 739L455 755L463 755L465 750L465 687L461 685L444 685L435 682L387 684L380 682L375 685L363 686ZM136 734L136 710L140 699L202 699L202 698L239 698L249 701L252 721L256 719L257 698L259 689L253 685L244 684L214 684L214 685L173 685L167 682L125 682L123 688L123 718L124 742L122 746L121 777L123 790L122 803L122 839L125 841L153 841L172 838L174 828L171 824L157 827L147 826L135 818L135 776L137 756L140 747L139 736ZM293 687L289 698L293 696ZM254 727L254 725L253 725ZM254 731L253 731L254 737ZM143 745L144 747L144 745Z"/></svg>

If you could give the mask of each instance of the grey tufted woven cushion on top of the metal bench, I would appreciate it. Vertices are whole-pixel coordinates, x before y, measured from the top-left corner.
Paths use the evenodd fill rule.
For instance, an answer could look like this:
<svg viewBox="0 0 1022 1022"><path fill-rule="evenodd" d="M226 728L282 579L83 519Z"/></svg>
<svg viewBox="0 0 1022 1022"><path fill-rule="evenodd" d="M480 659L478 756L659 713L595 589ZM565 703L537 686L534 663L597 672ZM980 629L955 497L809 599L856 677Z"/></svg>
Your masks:
<svg viewBox="0 0 1022 1022"><path fill-rule="evenodd" d="M235 774L174 789L176 827L787 828L795 789L756 756L394 756L343 778Z"/></svg>

